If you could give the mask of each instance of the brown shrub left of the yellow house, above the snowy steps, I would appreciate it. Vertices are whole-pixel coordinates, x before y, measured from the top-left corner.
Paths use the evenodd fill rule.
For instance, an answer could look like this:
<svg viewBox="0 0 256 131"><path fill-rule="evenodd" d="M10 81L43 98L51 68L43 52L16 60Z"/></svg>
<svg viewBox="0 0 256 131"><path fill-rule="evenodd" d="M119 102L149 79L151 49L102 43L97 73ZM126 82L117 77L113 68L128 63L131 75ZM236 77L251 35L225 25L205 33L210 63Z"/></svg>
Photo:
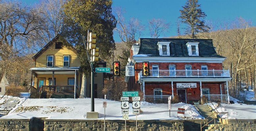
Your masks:
<svg viewBox="0 0 256 131"><path fill-rule="evenodd" d="M6 91L8 90L8 96L20 97L21 92L27 92L27 88L24 86L15 86L10 84L6 86ZM7 95L7 94L6 94Z"/></svg>

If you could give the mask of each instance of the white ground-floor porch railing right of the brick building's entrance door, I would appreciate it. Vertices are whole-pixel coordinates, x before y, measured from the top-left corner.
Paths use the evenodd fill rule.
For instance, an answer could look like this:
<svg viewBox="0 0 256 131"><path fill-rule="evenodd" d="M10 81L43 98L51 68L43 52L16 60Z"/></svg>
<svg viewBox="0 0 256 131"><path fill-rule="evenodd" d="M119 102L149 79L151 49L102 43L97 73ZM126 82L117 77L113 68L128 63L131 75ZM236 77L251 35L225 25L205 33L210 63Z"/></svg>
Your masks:
<svg viewBox="0 0 256 131"><path fill-rule="evenodd" d="M207 103L211 102L220 102L220 103L229 103L228 95L204 95L207 98Z"/></svg>

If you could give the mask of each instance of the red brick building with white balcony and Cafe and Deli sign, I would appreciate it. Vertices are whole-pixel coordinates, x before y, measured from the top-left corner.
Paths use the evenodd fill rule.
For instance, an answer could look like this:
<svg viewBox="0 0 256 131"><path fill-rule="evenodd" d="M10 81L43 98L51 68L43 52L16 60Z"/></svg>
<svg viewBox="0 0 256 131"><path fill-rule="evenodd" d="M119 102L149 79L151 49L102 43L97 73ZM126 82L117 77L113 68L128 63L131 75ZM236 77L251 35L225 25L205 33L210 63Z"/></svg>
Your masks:
<svg viewBox="0 0 256 131"><path fill-rule="evenodd" d="M149 102L166 103L168 96L179 96L191 103L205 95L208 102L229 103L224 86L231 77L222 69L224 60L211 39L140 38L128 62L135 66L135 76L125 80L128 90L141 90ZM141 75L143 61L149 61L149 76Z"/></svg>

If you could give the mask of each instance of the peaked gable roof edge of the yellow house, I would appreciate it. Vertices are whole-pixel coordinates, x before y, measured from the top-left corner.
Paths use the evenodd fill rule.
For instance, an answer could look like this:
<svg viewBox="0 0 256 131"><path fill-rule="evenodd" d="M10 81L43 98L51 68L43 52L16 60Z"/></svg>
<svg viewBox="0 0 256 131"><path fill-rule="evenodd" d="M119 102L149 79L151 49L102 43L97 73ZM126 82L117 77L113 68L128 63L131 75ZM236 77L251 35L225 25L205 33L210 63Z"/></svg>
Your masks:
<svg viewBox="0 0 256 131"><path fill-rule="evenodd" d="M70 50L72 50L76 55L78 55L78 51L71 45L69 44L64 37L62 37L60 34L57 34L57 36L55 36L48 44L46 44L37 54L35 54L32 58L34 61L36 61L36 59L42 55L49 47L51 47L55 42L58 42L58 40L61 40L63 43L67 43L68 48ZM64 44L63 44L64 45Z"/></svg>

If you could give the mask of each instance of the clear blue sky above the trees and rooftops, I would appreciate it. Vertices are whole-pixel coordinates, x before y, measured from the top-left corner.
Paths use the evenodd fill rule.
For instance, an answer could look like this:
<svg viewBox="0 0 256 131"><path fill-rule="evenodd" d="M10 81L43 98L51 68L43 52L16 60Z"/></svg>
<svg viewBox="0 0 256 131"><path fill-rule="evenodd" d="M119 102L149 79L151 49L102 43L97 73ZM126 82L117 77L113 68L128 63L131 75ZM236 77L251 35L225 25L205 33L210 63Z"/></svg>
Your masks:
<svg viewBox="0 0 256 131"><path fill-rule="evenodd" d="M34 3L38 0L21 0L23 3ZM166 36L176 36L175 22L180 16L179 10L185 5L187 0L113 0L112 7L120 6L126 9L125 18L139 18L146 30L141 38L147 38L149 32L147 29L148 21L152 18L163 18L167 22L171 22L172 28ZM201 4L201 9L207 17L204 20L222 21L235 20L237 17L242 17L246 20L251 20L255 26L256 20L256 0L198 0ZM184 25L183 25L184 26ZM160 36L164 37L164 36ZM119 42L118 35L114 35L115 42ZM136 38L138 40L138 38Z"/></svg>

